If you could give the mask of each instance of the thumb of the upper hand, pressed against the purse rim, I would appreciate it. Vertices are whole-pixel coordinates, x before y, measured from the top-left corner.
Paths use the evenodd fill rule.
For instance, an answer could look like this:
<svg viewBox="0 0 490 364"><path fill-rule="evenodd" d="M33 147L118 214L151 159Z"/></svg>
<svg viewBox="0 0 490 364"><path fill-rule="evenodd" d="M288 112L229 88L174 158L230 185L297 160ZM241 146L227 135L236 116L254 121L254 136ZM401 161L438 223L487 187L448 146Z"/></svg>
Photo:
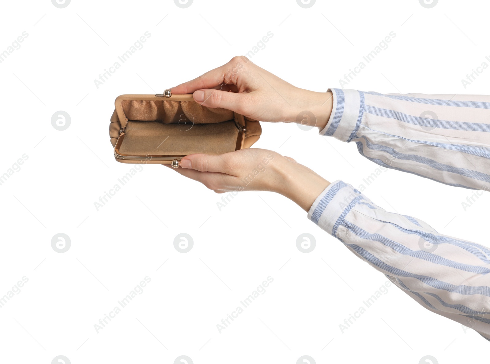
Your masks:
<svg viewBox="0 0 490 364"><path fill-rule="evenodd" d="M194 100L208 108L223 108L243 114L247 95L245 93L221 91L221 90L197 90L194 91Z"/></svg>

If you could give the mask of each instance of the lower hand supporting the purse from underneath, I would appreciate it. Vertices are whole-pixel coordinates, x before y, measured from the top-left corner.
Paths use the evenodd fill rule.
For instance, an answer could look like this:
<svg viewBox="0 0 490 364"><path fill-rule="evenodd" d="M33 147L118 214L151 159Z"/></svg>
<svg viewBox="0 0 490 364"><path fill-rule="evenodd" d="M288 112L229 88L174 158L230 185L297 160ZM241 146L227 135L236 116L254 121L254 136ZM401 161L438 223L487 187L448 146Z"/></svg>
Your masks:
<svg viewBox="0 0 490 364"><path fill-rule="evenodd" d="M293 200L306 211L330 184L292 158L255 148L241 149L219 156L191 154L182 158L176 171L203 183L217 193L277 192Z"/></svg>

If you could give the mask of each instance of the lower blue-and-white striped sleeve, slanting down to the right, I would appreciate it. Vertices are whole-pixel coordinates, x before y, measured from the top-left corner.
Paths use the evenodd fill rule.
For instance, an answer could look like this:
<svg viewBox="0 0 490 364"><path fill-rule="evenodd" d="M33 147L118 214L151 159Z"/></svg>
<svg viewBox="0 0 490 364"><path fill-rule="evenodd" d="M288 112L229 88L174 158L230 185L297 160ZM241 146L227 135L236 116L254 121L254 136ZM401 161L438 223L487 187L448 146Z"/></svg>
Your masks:
<svg viewBox="0 0 490 364"><path fill-rule="evenodd" d="M308 218L420 305L490 341L488 248L388 212L342 181L320 194Z"/></svg>

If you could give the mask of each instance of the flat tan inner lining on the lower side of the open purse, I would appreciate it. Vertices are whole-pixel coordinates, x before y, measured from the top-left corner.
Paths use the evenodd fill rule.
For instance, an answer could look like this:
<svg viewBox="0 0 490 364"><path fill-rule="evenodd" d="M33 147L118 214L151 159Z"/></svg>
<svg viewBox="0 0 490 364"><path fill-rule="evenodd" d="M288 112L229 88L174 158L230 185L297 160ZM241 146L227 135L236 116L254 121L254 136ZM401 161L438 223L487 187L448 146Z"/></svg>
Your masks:
<svg viewBox="0 0 490 364"><path fill-rule="evenodd" d="M235 121L230 119L213 124L129 120L119 152L128 156L218 155L236 150L240 136Z"/></svg>

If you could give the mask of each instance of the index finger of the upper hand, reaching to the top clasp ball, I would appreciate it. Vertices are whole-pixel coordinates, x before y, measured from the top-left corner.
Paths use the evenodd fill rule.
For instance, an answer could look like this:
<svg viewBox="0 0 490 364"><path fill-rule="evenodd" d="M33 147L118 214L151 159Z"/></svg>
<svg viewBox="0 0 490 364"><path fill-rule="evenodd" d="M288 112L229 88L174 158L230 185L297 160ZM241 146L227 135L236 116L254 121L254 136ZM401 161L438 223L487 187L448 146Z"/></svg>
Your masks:
<svg viewBox="0 0 490 364"><path fill-rule="evenodd" d="M184 82L176 87L173 87L172 93L193 93L199 89L212 89L213 87L221 85L222 83L233 83L228 75L236 73L233 70L238 68L240 65L243 66L247 62L248 59L246 59L246 57L233 57L230 62L224 64L223 66L212 69L194 80Z"/></svg>

